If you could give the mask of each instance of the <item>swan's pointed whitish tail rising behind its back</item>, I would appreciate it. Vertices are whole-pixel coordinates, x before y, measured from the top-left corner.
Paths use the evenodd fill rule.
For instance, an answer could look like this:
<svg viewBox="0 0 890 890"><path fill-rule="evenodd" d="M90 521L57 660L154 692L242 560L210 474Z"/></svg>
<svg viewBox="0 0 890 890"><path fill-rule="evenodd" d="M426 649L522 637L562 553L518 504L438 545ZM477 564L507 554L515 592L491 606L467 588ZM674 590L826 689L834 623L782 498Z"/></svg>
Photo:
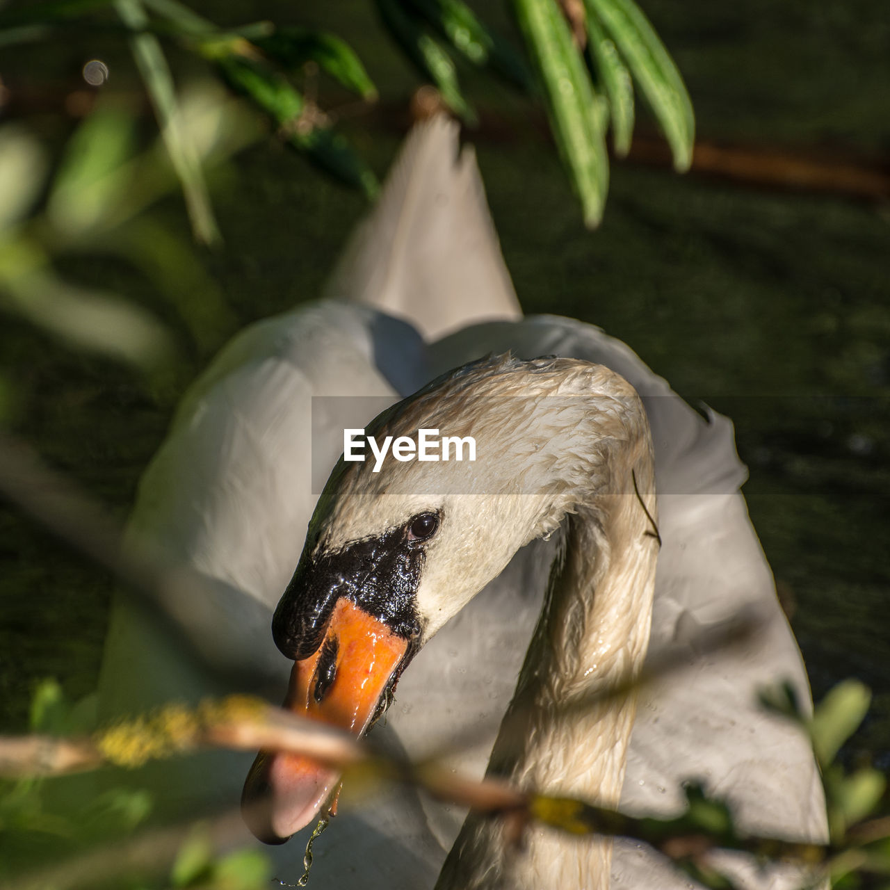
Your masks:
<svg viewBox="0 0 890 890"><path fill-rule="evenodd" d="M326 296L400 316L427 340L522 318L473 150L459 150L457 135L443 116L414 128Z"/></svg>

